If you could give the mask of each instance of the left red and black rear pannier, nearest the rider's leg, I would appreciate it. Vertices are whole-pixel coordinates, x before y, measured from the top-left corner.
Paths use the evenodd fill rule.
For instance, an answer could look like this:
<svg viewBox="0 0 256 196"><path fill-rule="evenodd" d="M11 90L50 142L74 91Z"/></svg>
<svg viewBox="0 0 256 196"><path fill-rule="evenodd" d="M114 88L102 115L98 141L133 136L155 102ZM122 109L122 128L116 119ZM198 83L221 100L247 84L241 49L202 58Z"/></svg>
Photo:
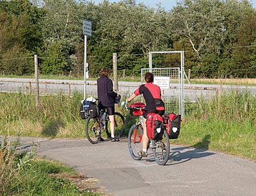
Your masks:
<svg viewBox="0 0 256 196"><path fill-rule="evenodd" d="M149 139L161 140L163 138L164 127L163 117L156 113L149 113L147 115L147 136Z"/></svg>

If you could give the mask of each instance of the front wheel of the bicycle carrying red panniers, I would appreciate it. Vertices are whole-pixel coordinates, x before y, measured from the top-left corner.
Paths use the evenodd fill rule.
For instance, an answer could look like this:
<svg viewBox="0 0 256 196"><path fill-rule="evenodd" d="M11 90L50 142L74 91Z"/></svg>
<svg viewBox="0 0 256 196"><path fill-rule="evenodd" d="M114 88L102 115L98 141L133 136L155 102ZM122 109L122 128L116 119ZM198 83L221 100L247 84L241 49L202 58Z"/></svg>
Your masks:
<svg viewBox="0 0 256 196"><path fill-rule="evenodd" d="M141 160L141 156L138 155L138 152L142 149L142 135L143 130L140 126L133 124L129 130L128 134L128 148L129 152L135 160Z"/></svg>

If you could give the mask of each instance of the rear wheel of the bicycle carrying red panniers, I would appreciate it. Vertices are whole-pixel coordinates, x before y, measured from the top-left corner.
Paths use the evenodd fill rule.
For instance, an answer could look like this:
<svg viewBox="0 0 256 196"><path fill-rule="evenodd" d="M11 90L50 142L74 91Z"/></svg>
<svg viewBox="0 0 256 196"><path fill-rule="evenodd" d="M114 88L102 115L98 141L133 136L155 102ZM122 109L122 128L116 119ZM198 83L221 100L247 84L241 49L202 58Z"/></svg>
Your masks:
<svg viewBox="0 0 256 196"><path fill-rule="evenodd" d="M162 140L152 140L152 151L156 162L165 165L170 155L170 140L168 133L164 130Z"/></svg>

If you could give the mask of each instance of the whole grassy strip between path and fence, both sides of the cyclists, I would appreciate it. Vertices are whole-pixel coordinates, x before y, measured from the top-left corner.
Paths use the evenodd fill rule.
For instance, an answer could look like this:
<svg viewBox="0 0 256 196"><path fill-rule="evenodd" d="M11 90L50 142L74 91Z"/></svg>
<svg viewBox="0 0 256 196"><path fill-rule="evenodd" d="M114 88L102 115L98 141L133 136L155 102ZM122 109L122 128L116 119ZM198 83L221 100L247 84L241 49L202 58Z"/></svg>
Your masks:
<svg viewBox="0 0 256 196"><path fill-rule="evenodd" d="M0 94L0 128L9 124L10 134L20 136L84 138L84 123L79 116L83 95L63 94L40 96L40 108L35 97L24 94ZM125 99L125 98L124 98ZM247 91L221 94L216 100L200 99L189 105L180 137L175 144L188 144L239 155L256 160L256 98ZM117 106L126 117L126 135L134 123L129 112ZM191 112L192 111L192 112Z"/></svg>

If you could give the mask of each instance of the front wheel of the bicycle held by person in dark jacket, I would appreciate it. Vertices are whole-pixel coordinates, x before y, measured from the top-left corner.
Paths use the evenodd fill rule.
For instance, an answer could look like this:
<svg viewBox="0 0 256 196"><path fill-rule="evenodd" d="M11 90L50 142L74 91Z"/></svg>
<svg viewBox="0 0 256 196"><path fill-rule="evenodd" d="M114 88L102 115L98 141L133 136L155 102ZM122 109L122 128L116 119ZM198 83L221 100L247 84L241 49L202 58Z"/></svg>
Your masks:
<svg viewBox="0 0 256 196"><path fill-rule="evenodd" d="M124 123L124 116L122 114L115 112L115 137L120 138L124 134L125 131L125 123ZM109 118L108 121L106 121L106 133L108 137L111 137L111 131L110 131L110 123Z"/></svg>

